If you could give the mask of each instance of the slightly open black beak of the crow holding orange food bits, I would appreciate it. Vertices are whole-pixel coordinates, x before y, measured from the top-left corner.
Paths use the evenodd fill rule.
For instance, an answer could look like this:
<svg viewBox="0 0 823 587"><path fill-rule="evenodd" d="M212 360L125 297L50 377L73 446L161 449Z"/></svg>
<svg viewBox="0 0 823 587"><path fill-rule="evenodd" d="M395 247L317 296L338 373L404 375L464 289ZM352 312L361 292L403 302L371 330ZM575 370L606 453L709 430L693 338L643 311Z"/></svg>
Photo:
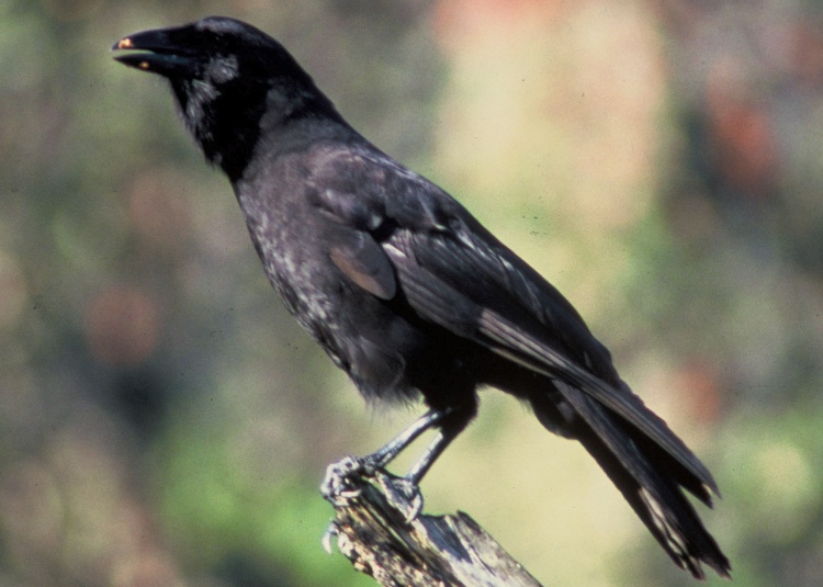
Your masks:
<svg viewBox="0 0 823 587"><path fill-rule="evenodd" d="M112 50L128 50L115 55L114 59L128 67L158 74L167 78L191 77L196 56L176 45L171 38L173 29L158 29L135 33L117 41Z"/></svg>

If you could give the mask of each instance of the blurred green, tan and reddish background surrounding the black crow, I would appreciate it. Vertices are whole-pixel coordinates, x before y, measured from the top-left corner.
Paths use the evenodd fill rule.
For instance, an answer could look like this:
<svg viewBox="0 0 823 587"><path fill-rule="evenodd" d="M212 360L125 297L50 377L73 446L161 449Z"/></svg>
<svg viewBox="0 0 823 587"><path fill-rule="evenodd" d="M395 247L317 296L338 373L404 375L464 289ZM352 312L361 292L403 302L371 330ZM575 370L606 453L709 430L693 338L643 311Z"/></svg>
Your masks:
<svg viewBox="0 0 823 587"><path fill-rule="evenodd" d="M208 14L573 301L713 471L735 585L820 585L823 4L0 0L0 586L372 585L317 486L417 413L363 407L162 80L109 53ZM427 511L546 585L694 584L579 447L483 399Z"/></svg>

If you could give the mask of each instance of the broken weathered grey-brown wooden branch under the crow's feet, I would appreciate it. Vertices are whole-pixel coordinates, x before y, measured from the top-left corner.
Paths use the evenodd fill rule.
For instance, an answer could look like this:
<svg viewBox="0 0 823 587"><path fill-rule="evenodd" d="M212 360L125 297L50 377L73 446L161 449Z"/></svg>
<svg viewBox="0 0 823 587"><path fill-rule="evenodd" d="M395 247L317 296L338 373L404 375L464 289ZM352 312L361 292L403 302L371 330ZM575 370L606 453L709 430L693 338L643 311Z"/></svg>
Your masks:
<svg viewBox="0 0 823 587"><path fill-rule="evenodd" d="M466 513L416 516L403 479L384 471L331 465L322 493L335 506L326 535L354 568L383 587L541 587L477 522Z"/></svg>

